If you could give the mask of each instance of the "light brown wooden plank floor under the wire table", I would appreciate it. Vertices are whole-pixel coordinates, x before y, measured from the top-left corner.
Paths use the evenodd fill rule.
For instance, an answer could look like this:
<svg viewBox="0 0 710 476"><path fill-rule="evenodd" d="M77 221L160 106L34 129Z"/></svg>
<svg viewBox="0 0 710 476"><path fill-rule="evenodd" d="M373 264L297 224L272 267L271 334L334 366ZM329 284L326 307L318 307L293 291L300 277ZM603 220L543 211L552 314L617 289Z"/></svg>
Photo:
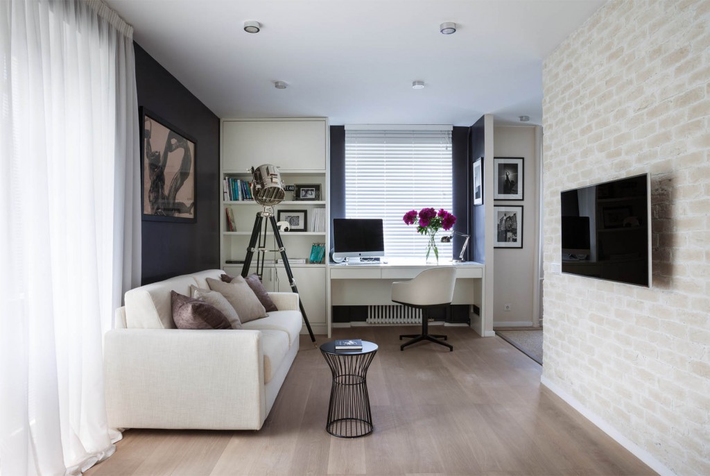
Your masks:
<svg viewBox="0 0 710 476"><path fill-rule="evenodd" d="M400 352L400 332L417 329L334 330L334 338L379 345L368 372L370 436L325 432L331 375L320 350L301 336L261 431L130 430L86 474L655 474L540 386L542 367L500 337L446 328L454 352L431 343Z"/></svg>

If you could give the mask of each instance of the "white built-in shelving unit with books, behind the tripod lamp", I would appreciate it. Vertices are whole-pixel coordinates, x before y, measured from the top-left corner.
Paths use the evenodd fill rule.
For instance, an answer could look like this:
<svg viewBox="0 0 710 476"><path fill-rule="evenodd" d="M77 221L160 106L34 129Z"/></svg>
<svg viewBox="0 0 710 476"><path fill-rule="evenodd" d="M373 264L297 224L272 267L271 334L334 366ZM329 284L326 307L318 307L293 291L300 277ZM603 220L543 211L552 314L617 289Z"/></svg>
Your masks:
<svg viewBox="0 0 710 476"><path fill-rule="evenodd" d="M264 163L280 168L285 185L317 185L320 200L297 200L293 192L286 192L283 202L274 208L276 219L283 219L288 212L302 218L305 212L305 231L280 232L296 286L307 317L316 334L327 333L326 325L326 265L310 262L314 243L330 249L329 234L329 129L326 118L288 119L222 119L220 188L224 178L239 178L251 181L251 167ZM322 215L322 231L311 231L315 210ZM231 231L226 210L234 217L236 230ZM225 200L220 203L220 256L222 268L228 274L241 274L243 264L227 261L243 261L249 245L256 215L262 207L253 200ZM266 247L277 249L273 230L266 224ZM253 255L250 272L256 271ZM280 259L278 251L266 254L265 259ZM305 263L301 262L305 259ZM324 256L327 260L327 253ZM262 282L269 291L291 291L288 276L282 264L266 264ZM302 330L305 331L305 326Z"/></svg>

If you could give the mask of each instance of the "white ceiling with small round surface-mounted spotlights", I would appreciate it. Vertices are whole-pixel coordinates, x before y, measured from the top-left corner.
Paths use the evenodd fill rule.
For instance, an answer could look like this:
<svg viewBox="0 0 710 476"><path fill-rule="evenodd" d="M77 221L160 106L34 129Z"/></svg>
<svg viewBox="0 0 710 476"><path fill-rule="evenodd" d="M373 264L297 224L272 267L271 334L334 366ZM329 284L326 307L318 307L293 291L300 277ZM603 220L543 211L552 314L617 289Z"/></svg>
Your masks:
<svg viewBox="0 0 710 476"><path fill-rule="evenodd" d="M606 0L107 0L219 117L542 121L542 61ZM244 21L261 33L243 30ZM439 33L453 21L458 31ZM412 82L423 80L423 90ZM275 89L275 81L288 88Z"/></svg>

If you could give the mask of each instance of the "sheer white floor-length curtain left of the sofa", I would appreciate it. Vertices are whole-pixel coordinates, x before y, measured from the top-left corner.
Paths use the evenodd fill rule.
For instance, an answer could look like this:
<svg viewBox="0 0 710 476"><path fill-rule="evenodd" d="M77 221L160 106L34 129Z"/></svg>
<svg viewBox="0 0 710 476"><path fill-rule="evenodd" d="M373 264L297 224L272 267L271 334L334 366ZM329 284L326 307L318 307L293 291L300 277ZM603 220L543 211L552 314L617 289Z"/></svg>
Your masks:
<svg viewBox="0 0 710 476"><path fill-rule="evenodd" d="M114 452L102 337L140 276L133 31L100 1L0 1L0 472Z"/></svg>

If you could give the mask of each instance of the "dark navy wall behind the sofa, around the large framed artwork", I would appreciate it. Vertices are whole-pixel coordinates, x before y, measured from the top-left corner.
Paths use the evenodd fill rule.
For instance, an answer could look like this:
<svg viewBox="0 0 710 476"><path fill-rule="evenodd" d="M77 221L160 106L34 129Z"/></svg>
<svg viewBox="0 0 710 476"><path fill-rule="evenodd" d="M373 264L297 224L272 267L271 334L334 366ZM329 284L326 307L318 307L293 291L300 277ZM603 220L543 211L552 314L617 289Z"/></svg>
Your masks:
<svg viewBox="0 0 710 476"><path fill-rule="evenodd" d="M197 140L197 222L143 222L141 283L148 284L219 268L219 118L138 43L133 45L138 106Z"/></svg>

